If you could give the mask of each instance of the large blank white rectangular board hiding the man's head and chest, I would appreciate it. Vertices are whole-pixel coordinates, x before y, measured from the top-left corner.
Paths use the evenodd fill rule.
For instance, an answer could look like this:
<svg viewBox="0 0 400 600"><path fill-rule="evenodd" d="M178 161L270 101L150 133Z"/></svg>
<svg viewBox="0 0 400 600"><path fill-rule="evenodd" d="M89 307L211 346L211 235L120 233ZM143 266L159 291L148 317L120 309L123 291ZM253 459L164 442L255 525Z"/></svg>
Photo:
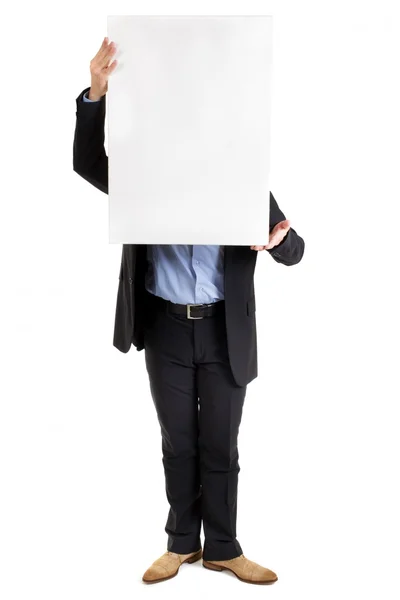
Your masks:
<svg viewBox="0 0 400 600"><path fill-rule="evenodd" d="M270 16L109 16L109 239L267 244Z"/></svg>

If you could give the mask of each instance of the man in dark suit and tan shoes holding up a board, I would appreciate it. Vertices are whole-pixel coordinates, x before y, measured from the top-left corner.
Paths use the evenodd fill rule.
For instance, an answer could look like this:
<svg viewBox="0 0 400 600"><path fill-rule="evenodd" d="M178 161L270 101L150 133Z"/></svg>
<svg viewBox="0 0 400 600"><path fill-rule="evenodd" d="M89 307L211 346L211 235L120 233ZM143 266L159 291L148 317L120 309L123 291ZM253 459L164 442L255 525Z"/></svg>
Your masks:
<svg viewBox="0 0 400 600"><path fill-rule="evenodd" d="M104 38L90 62L91 87L76 99L73 168L106 194L105 94L115 51ZM272 193L266 246L123 245L113 343L145 350L170 504L167 551L146 583L200 558L248 583L277 580L236 538L237 437L246 386L257 377L254 269L263 249L287 266L304 252Z"/></svg>

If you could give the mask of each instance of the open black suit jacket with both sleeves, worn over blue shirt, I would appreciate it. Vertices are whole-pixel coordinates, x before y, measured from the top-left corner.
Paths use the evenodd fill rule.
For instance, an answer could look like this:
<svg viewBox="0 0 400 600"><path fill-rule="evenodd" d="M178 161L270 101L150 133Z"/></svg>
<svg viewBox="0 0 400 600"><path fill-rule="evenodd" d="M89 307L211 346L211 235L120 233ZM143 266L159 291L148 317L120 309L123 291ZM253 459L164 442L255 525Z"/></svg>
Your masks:
<svg viewBox="0 0 400 600"><path fill-rule="evenodd" d="M76 99L73 169L108 194L108 157L104 147L105 96L84 102L85 88ZM270 194L270 232L286 217ZM133 344L143 350L143 311L146 250L143 244L123 244L115 313L113 345L128 352ZM300 262L304 240L290 228L282 242L268 250L283 265ZM256 301L254 269L258 252L247 246L225 246L225 312L229 359L233 377L244 386L257 377Z"/></svg>

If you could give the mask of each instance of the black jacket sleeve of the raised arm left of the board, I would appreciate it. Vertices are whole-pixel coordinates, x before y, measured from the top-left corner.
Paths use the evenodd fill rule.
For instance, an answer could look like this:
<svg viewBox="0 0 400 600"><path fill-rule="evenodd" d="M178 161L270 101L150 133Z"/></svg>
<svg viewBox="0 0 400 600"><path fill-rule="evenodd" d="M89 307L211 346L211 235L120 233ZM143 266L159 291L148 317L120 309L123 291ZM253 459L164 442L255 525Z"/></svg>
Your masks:
<svg viewBox="0 0 400 600"><path fill-rule="evenodd" d="M97 189L108 194L108 156L104 147L106 97L85 102L84 89L76 99L73 169Z"/></svg>

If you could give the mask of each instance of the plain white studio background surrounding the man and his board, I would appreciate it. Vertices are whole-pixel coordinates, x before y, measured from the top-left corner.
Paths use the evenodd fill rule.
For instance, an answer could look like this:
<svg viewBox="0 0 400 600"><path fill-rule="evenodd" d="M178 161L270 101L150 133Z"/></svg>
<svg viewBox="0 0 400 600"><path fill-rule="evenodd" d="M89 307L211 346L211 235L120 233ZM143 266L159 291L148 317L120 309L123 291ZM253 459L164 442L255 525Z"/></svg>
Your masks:
<svg viewBox="0 0 400 600"><path fill-rule="evenodd" d="M2 600L398 599L400 15L393 1L35 2L3 19ZM279 581L165 551L144 355L112 346L121 249L72 170L75 98L107 14L272 14L271 189L306 240L256 271L260 364L239 438L238 539ZM23 18L22 18L23 17Z"/></svg>

